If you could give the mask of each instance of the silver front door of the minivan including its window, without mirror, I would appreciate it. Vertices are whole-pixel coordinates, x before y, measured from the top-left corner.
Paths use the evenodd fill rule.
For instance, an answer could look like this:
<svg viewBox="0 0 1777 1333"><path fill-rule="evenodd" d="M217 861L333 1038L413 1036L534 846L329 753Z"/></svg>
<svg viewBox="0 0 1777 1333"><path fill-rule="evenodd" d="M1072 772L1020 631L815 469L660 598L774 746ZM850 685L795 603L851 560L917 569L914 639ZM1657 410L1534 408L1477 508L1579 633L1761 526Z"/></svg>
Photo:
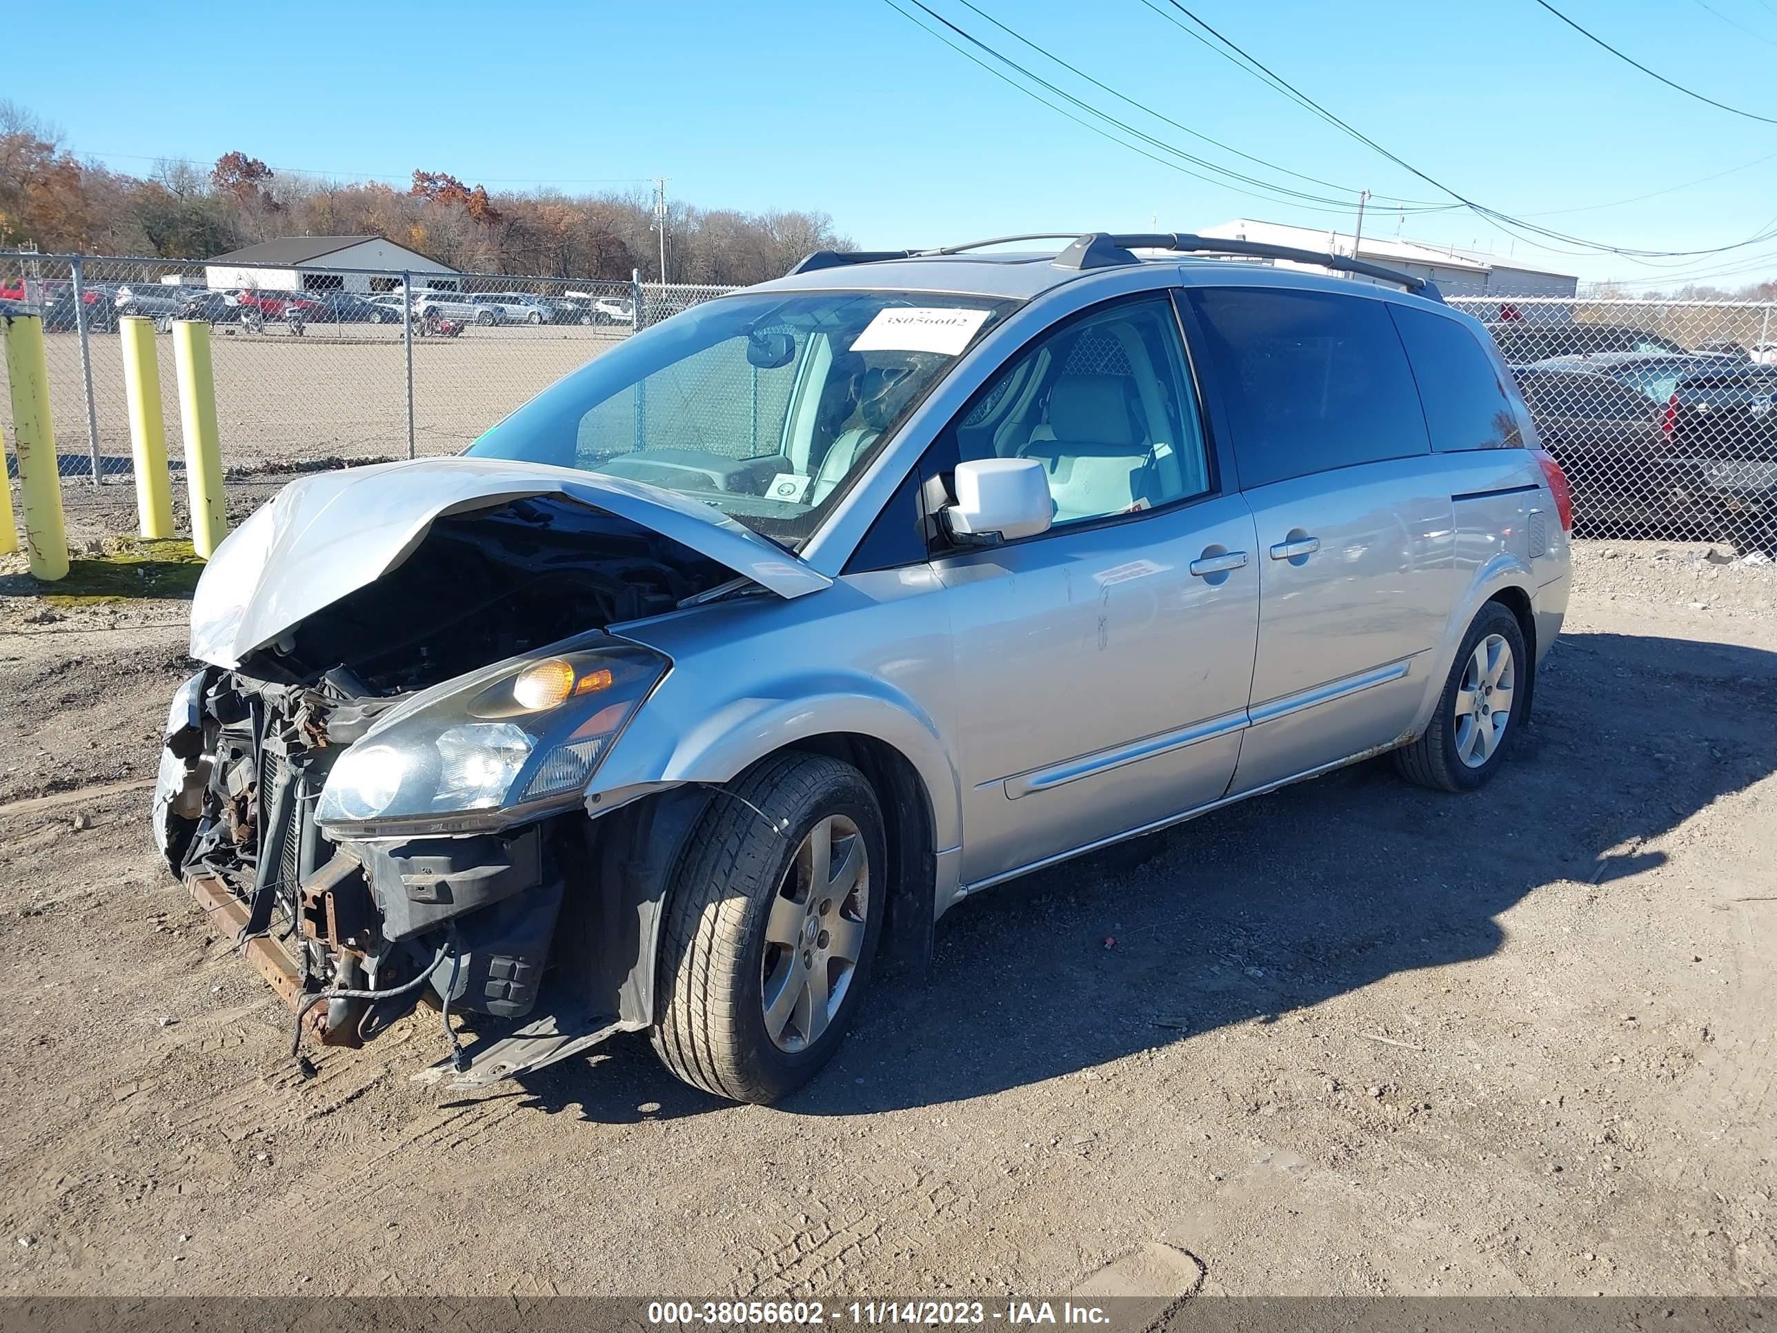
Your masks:
<svg viewBox="0 0 1777 1333"><path fill-rule="evenodd" d="M1086 311L935 443L1034 457L1047 533L933 560L945 587L979 887L1221 798L1258 635L1253 515L1212 466L1169 299Z"/></svg>

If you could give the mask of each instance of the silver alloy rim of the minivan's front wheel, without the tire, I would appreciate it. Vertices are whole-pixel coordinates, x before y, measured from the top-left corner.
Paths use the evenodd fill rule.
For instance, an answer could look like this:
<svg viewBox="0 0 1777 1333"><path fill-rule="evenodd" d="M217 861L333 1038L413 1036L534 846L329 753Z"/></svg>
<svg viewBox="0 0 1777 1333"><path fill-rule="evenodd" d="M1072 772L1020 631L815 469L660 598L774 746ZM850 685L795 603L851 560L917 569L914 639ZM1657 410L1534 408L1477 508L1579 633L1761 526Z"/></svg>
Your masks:
<svg viewBox="0 0 1777 1333"><path fill-rule="evenodd" d="M780 1050L821 1040L858 967L871 910L869 851L842 814L814 825L796 848L766 917L761 1002Z"/></svg>

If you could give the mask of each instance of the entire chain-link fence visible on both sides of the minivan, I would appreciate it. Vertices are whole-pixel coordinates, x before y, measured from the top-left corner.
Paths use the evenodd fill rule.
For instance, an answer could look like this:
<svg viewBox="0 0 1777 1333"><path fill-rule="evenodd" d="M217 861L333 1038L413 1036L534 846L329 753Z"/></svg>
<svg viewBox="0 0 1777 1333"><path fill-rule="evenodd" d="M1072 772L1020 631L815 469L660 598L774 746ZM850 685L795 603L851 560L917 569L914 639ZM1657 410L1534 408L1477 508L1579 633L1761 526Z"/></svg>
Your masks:
<svg viewBox="0 0 1777 1333"><path fill-rule="evenodd" d="M0 252L0 300L44 320L57 451L71 489L130 476L121 315L162 329L176 318L213 325L224 464L236 480L272 480L339 462L457 453L636 327L729 290ZM1569 297L1450 297L1450 306L1493 332L1573 482L1582 535L1777 549L1773 306ZM748 373L739 363L704 370ZM158 371L178 467L165 343ZM679 416L695 418L702 395L684 387ZM777 405L757 411L769 418ZM650 421L686 425L665 411ZM4 386L0 425L11 434Z"/></svg>

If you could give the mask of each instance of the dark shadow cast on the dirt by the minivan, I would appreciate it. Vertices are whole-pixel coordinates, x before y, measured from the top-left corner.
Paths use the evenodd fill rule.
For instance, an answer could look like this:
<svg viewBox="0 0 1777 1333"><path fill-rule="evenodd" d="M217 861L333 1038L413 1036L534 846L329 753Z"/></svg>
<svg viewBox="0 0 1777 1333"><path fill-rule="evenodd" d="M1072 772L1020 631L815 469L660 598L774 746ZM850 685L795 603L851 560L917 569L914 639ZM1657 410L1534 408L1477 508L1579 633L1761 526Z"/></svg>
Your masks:
<svg viewBox="0 0 1777 1333"><path fill-rule="evenodd" d="M1537 889L1660 864L1642 844L1777 770L1777 652L1574 635L1484 794L1383 759L1006 885L938 926L924 983L883 978L793 1114L935 1106L1201 1042L1397 972L1486 958ZM1151 853L1144 864L1132 864ZM725 1104L629 1038L522 1082L595 1121Z"/></svg>

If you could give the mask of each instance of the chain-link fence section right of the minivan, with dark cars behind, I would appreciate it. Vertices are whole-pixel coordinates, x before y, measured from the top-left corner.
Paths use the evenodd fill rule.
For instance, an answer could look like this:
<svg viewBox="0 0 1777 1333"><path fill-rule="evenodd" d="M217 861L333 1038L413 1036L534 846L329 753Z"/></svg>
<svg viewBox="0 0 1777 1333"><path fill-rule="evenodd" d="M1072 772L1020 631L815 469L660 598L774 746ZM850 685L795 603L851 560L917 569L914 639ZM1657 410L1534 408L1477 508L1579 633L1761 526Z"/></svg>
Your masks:
<svg viewBox="0 0 1777 1333"><path fill-rule="evenodd" d="M1777 311L1745 300L1471 299L1582 537L1777 549Z"/></svg>

